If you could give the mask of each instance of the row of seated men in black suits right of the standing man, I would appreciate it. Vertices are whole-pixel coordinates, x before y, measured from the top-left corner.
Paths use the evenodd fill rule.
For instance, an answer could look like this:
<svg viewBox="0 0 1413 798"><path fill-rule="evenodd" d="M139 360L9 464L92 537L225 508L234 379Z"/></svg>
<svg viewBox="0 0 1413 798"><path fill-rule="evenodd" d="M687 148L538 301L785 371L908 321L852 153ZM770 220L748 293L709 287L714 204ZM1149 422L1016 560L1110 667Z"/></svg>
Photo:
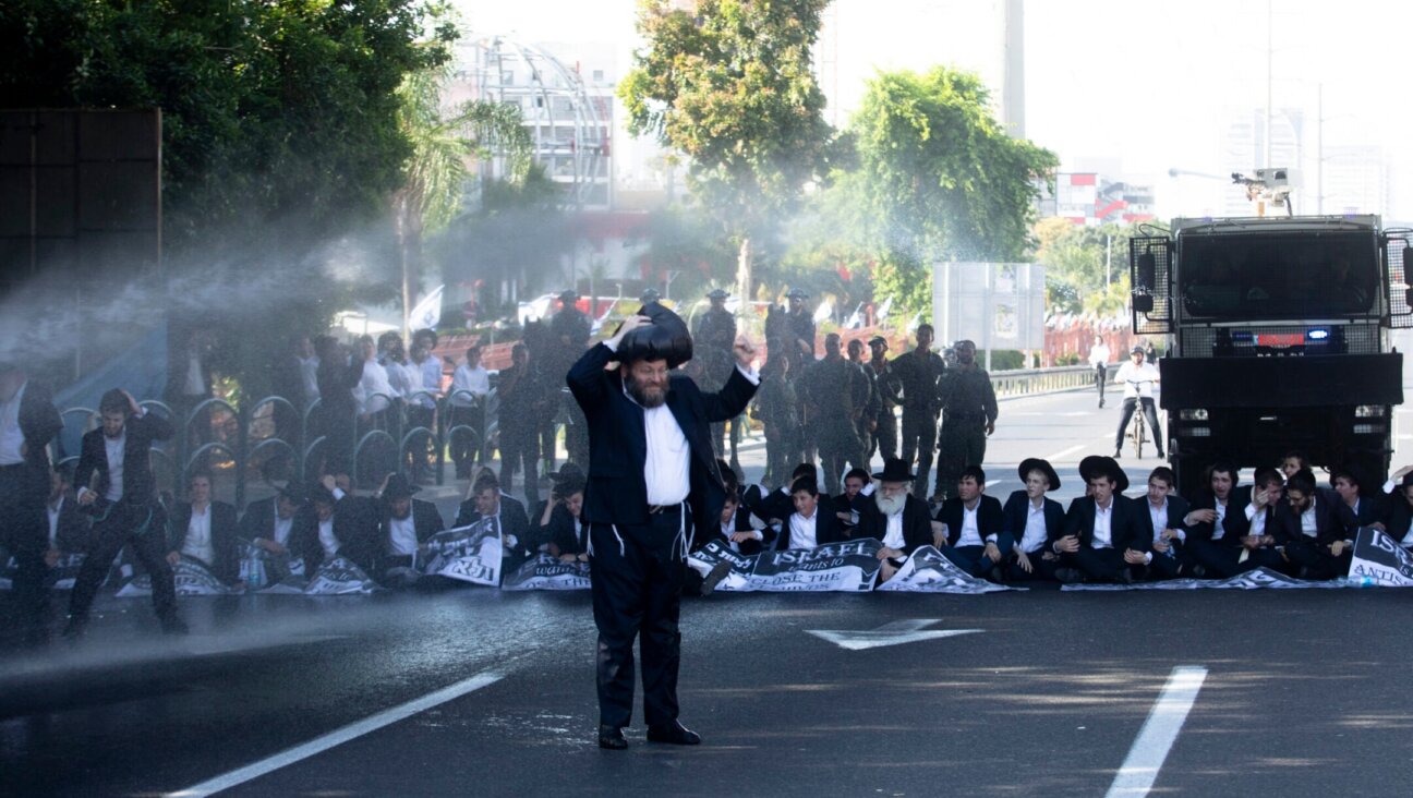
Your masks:
<svg viewBox="0 0 1413 798"><path fill-rule="evenodd" d="M1361 527L1413 548L1413 466L1379 493L1362 490L1347 469L1320 487L1300 455L1284 458L1280 469L1259 469L1249 486L1238 484L1235 466L1217 463L1190 500L1173 492L1166 466L1153 469L1147 492L1133 499L1123 496L1129 477L1113 458L1085 458L1080 475L1085 494L1063 508L1046 496L1060 487L1056 469L1026 459L1017 469L1024 489L1002 504L986 496L986 473L968 466L955 496L934 508L909 493L914 475L903 460L887 460L872 475L876 482L851 470L834 497L820 494L808 463L777 490L736 486L728 472L721 528L698 534L697 545L719 540L749 555L875 538L883 544L883 580L914 549L931 545L974 576L1063 583L1225 579L1256 568L1334 579L1348 573ZM712 575L704 576L709 590Z"/></svg>

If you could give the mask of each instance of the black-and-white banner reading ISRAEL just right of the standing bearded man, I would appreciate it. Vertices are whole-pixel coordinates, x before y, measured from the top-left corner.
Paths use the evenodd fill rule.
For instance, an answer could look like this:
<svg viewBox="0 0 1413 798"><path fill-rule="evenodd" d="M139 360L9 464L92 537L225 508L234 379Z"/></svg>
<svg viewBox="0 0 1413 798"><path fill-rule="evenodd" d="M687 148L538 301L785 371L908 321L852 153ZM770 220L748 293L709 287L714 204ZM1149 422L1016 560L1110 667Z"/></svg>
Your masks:
<svg viewBox="0 0 1413 798"><path fill-rule="evenodd" d="M766 551L742 556L721 541L711 541L688 556L698 571L731 562L731 573L716 590L736 592L844 592L866 593L879 573L876 540L828 544L817 548Z"/></svg>

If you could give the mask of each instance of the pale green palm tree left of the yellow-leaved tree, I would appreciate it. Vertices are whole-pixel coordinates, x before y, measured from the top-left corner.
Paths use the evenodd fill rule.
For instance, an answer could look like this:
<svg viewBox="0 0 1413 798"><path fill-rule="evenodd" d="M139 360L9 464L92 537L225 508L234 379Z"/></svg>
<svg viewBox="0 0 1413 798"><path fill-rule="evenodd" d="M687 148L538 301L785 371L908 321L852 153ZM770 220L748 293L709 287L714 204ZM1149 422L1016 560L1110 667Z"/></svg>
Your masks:
<svg viewBox="0 0 1413 798"><path fill-rule="evenodd" d="M442 88L451 64L411 72L397 93L401 97L403 136L411 144L404 165L406 182L393 195L393 218L403 266L403 336L408 335L413 291L421 271L421 242L456 218L476 161L503 157L506 179L523 182L530 174L533 148L517 106L471 100L445 107Z"/></svg>

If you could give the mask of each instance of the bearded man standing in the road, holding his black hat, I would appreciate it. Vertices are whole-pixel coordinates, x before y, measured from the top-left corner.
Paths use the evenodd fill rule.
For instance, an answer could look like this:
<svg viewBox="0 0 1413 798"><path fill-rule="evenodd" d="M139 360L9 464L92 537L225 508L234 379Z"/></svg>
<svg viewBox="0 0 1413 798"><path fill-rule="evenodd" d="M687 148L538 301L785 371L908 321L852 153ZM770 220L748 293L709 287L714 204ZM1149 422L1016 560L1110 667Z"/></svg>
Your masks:
<svg viewBox="0 0 1413 798"><path fill-rule="evenodd" d="M633 640L642 631L647 739L697 744L677 720L677 629L682 562L694 530L719 523L722 476L709 425L746 408L759 377L755 347L735 343L736 370L715 394L671 374L692 356L687 325L661 305L629 316L569 370L589 427L589 524L593 621L599 629L599 746L626 749L633 713ZM617 362L613 371L605 370Z"/></svg>

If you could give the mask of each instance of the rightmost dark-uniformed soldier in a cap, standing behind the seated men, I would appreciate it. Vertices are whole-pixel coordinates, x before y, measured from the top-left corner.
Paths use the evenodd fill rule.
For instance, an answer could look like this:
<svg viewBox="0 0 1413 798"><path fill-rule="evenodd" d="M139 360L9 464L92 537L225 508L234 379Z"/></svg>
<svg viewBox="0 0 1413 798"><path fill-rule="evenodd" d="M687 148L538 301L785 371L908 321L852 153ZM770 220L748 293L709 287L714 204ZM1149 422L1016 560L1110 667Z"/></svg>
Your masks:
<svg viewBox="0 0 1413 798"><path fill-rule="evenodd" d="M976 364L976 345L958 340L957 366L941 383L942 431L937 436L937 493L948 497L966 466L986 459L986 436L996 431L996 391Z"/></svg>

